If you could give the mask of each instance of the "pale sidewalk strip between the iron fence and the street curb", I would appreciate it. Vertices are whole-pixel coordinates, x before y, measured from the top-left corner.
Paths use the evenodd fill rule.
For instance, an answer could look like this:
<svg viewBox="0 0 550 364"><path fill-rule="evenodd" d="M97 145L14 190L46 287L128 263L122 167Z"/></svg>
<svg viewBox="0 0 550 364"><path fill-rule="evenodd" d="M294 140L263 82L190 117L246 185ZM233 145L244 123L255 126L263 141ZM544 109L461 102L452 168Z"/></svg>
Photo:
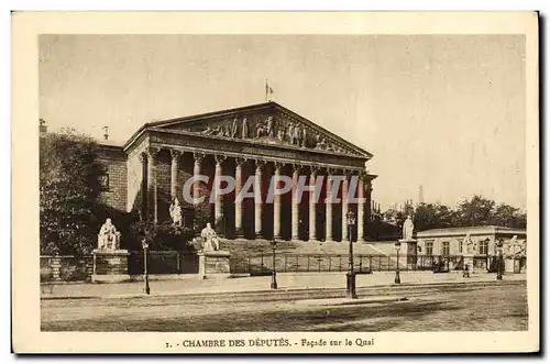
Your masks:
<svg viewBox="0 0 550 364"><path fill-rule="evenodd" d="M402 284L394 284L394 272L375 272L369 275L356 276L356 287L375 288L387 286L410 287L416 285L494 283L495 274L479 273L470 278L463 278L462 273L431 272L402 272ZM212 295L234 293L260 293L270 290L271 276L241 277L241 278L210 278L200 279L190 276L178 280L152 280L150 283L152 296L172 295ZM526 280L525 274L508 274L503 282ZM277 274L278 291L304 289L343 289L345 288L345 273L286 273ZM61 284L43 285L42 299L63 298L124 298L143 296L143 283L123 284Z"/></svg>

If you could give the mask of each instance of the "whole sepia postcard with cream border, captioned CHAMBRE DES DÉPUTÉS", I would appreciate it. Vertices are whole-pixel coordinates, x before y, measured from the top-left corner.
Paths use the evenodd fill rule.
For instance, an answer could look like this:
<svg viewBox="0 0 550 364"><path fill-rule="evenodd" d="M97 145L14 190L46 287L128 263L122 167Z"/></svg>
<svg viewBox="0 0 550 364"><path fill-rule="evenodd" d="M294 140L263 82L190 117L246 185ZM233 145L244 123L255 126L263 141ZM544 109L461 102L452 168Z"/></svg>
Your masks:
<svg viewBox="0 0 550 364"><path fill-rule="evenodd" d="M536 13L449 18L463 32L437 27L450 13L405 24L431 32L398 13L202 14L218 32L55 14L14 29L37 96L13 131L36 153L13 195L35 200L13 220L36 256L13 250L33 277L12 305L36 310L14 326L43 338L24 351L538 350ZM23 30L47 15L69 22ZM369 15L385 27L342 25ZM306 16L324 31L268 31Z"/></svg>

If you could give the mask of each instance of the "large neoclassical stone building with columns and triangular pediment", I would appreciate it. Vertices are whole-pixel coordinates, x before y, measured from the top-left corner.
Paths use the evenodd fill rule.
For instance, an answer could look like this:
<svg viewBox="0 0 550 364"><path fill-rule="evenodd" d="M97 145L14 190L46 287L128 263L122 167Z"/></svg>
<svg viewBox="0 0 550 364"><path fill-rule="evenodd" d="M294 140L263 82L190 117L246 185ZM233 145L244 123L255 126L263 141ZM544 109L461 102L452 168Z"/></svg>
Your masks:
<svg viewBox="0 0 550 364"><path fill-rule="evenodd" d="M103 200L120 210L139 211L154 222L169 220L175 198L183 207L184 224L199 230L211 222L229 239L284 239L340 241L348 231L345 214L352 210L358 223L354 239L362 241L371 213L372 183L365 164L372 154L315 124L276 102L151 122L140 128L123 145L101 146L108 168ZM185 183L194 175L209 176L195 183L193 196L207 196L200 203L186 201ZM235 179L235 190L210 203L215 176ZM293 186L300 176L315 184L317 176L340 175L341 201L326 203L331 188L323 179L318 202L306 192L298 203L296 188L273 203L265 202L273 176L288 176ZM359 176L355 196L364 203L349 203L349 178ZM235 201L235 194L250 177L254 198ZM260 188L258 188L260 187ZM342 236L344 235L344 236Z"/></svg>

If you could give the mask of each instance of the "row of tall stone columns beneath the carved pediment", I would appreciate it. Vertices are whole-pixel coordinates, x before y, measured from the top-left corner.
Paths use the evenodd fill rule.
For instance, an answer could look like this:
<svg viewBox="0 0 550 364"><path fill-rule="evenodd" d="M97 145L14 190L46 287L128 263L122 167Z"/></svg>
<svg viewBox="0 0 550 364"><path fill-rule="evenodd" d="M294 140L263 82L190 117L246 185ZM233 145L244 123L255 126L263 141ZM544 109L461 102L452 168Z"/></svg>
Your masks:
<svg viewBox="0 0 550 364"><path fill-rule="evenodd" d="M157 192L157 184L156 184L156 173L155 173L155 165L156 165L156 159L158 156L158 153L161 152L161 148L158 147L148 147L145 150L142 162L145 159L147 161L146 168L143 170L146 172L146 195L147 195L147 209L148 209L148 216L152 217L152 219L157 222L158 221L158 192ZM190 153L190 152L189 152ZM202 164L206 157L206 154L204 153L197 153L194 152L194 168L193 173L195 177L201 175L202 170ZM179 173L179 158L182 157L183 152L178 150L170 150L170 156L172 156L172 164L170 164L170 197L174 199L177 196L178 188L182 186L178 186L178 173ZM216 161L216 167L215 167L215 181L220 181L220 177L222 174L231 174L233 175L233 170L224 170L224 162L227 161L227 156L224 155L213 155L215 161ZM307 172L307 178L308 178L308 184L309 187L316 186L317 177L318 175L322 174L326 177L324 183L324 189L326 189L326 201L331 201L332 196L331 194L334 192L332 189L332 184L336 183L334 179L331 177L333 175L341 175L343 176L343 180L340 184L340 198L341 202L341 219L342 219L342 240L348 240L348 218L346 213L350 209L350 203L348 201L348 189L349 189L349 179L350 176L356 175L360 178L358 179L358 186L356 186L356 195L355 197L362 201L364 198L364 191L365 191L365 183L367 184L367 195L370 197L370 191L371 191L371 183L367 178L365 178L367 175L362 172L362 170L351 170L351 169L345 169L345 167L342 168L327 168L327 167L319 167L315 165L308 165L306 163L304 164L296 164L296 163L284 163L284 162L268 162L265 159L261 158L255 158L255 159L245 159L243 157L235 157L234 158L234 181L235 181L235 196L241 192L243 188L243 169L246 164L249 164L251 170L253 172L253 194L254 194L254 238L261 238L264 233L263 225L262 225L262 210L264 208L264 205L266 201L262 200L262 190L265 190L265 186L262 186L263 179L264 179L264 173L265 173L265 166L267 163L273 163L273 178L274 178L274 184L275 186L279 186L280 184L280 176L283 174L283 168L285 166L290 166L292 167L292 223L290 223L290 239L292 240L298 240L299 239L299 201L297 198L298 192L298 180L299 177L301 176L302 172ZM221 188L221 186L212 186L212 188ZM196 180L193 184L193 189L191 189L193 198L198 199L200 196L200 181ZM367 197L367 200L370 199ZM207 197L208 200L208 197ZM220 194L216 194L215 198L215 207L213 207L213 220L219 221L222 218L223 214L223 198ZM243 231L243 201L235 199L234 201L234 231L238 234L242 234ZM369 202L369 201L367 201ZM308 235L310 241L316 241L317 240L317 209L319 208L318 205L318 199L317 198L309 198L309 229L308 229ZM334 229L333 229L333 205L334 203L324 203L324 241L333 241L334 240ZM355 221L358 224L358 230L356 230L356 236L359 241L364 240L364 213L365 213L365 208L364 208L364 202L359 202L356 203L356 217ZM274 195L273 197L273 236L275 239L280 239L282 238L282 196L280 195Z"/></svg>

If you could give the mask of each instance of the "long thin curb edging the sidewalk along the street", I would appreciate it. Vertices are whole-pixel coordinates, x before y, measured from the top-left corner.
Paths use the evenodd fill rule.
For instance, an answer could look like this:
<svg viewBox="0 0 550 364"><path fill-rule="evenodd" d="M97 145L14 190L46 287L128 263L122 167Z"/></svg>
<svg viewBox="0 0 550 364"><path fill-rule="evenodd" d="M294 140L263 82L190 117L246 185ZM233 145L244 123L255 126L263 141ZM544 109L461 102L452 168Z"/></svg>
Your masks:
<svg viewBox="0 0 550 364"><path fill-rule="evenodd" d="M474 282L437 282L437 283L415 283L415 284L391 284L391 285L375 285L356 287L358 290L373 290L373 289L400 289L400 288L411 288L411 287L455 287L455 286L480 286L486 284L497 284L497 285L515 285L518 283L525 283L526 279L514 279L514 280L474 280ZM311 293L311 291L345 291L344 287L311 287L311 288L282 288L282 289L243 289L243 290L227 290L227 291L202 291L193 293L188 290L176 290L176 291L164 291L155 293L152 295L145 295L144 293L135 294L120 294L120 295L87 295L87 296L55 296L45 295L41 296L41 300L63 300L63 299L123 299L123 298L146 298L146 297L169 297L169 296L187 296L187 297L208 297L208 296L235 296L235 295L273 295L273 294L286 294L286 293Z"/></svg>

